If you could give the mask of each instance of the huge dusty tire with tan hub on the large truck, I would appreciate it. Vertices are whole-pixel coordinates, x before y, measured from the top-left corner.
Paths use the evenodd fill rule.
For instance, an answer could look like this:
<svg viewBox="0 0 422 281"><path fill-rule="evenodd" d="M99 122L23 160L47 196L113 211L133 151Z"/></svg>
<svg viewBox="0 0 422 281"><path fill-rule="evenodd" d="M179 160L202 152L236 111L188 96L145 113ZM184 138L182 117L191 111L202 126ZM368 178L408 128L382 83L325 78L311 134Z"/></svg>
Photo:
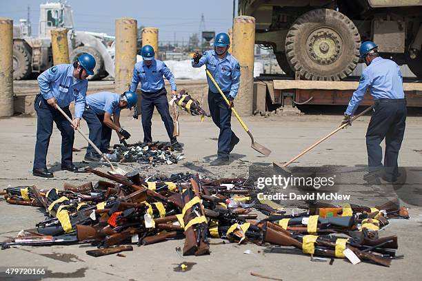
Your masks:
<svg viewBox="0 0 422 281"><path fill-rule="evenodd" d="M339 81L359 62L361 37L341 12L316 9L302 14L288 31L285 54L302 79Z"/></svg>

